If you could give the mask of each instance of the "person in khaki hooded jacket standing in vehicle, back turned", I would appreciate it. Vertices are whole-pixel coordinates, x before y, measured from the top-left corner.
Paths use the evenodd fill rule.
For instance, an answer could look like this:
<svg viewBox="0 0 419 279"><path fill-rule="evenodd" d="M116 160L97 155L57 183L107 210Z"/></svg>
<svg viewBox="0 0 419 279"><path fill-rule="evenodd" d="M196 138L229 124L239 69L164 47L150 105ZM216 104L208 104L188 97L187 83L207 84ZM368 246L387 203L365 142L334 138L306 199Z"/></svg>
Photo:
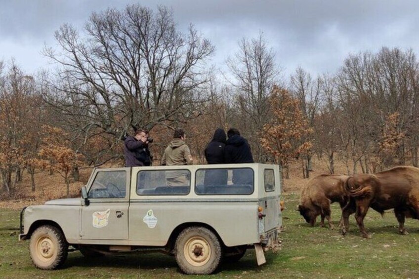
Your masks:
<svg viewBox="0 0 419 279"><path fill-rule="evenodd" d="M183 129L174 130L173 139L169 143L162 157L162 165L191 165L193 159L191 151L185 143L186 134ZM170 171L166 173L168 186L187 186L189 177L184 170Z"/></svg>

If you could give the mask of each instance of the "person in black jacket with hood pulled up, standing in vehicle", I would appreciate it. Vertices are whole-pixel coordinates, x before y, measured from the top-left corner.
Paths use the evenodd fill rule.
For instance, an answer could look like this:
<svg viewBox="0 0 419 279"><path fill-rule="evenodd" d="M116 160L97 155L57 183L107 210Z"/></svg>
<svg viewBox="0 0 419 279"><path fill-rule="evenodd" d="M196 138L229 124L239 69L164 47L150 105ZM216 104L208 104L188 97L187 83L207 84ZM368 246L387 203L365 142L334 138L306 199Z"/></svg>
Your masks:
<svg viewBox="0 0 419 279"><path fill-rule="evenodd" d="M223 164L225 162L224 148L227 136L225 131L218 128L214 132L212 140L205 149L205 159L209 164ZM205 185L227 185L226 169L206 170L204 184Z"/></svg>

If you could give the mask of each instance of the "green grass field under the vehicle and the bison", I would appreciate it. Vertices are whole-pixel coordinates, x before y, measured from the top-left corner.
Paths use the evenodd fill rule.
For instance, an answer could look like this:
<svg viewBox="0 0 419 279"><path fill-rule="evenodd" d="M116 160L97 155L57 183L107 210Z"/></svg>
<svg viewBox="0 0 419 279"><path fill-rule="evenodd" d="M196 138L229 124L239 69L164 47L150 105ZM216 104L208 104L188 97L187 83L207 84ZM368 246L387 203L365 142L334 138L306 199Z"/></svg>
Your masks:
<svg viewBox="0 0 419 279"><path fill-rule="evenodd" d="M381 217L370 211L365 225L372 239L362 239L350 217L350 232L311 228L294 210L299 195L285 195L282 249L266 254L258 267L254 251L235 264L222 265L217 273L202 278L419 278L419 221L408 219L407 236L397 234L392 212ZM340 218L332 207L334 224ZM163 254L130 254L86 259L71 252L61 270L36 269L29 257L29 241L17 240L19 211L0 209L0 278L196 278L180 273L173 257Z"/></svg>

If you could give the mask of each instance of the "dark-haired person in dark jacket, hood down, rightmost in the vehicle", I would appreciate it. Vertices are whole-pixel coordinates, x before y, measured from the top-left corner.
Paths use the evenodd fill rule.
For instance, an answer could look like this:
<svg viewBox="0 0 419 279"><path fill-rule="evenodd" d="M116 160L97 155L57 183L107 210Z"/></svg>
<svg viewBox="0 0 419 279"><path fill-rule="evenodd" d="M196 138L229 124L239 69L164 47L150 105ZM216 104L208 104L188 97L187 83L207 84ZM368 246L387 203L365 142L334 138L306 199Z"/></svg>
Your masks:
<svg viewBox="0 0 419 279"><path fill-rule="evenodd" d="M252 163L253 156L248 141L240 135L236 128L227 131L228 140L225 145L226 163ZM247 169L237 169L233 171L233 184L253 184L252 172Z"/></svg>

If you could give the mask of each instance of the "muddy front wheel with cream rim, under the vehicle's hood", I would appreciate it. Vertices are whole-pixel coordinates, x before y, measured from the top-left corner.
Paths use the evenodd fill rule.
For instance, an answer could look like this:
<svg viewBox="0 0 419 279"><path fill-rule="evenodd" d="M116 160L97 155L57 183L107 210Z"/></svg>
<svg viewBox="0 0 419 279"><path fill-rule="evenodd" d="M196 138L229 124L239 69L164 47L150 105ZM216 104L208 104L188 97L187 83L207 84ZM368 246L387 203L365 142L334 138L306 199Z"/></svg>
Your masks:
<svg viewBox="0 0 419 279"><path fill-rule="evenodd" d="M54 226L44 225L35 230L29 243L32 262L39 269L61 267L68 254L68 244L63 234Z"/></svg>

